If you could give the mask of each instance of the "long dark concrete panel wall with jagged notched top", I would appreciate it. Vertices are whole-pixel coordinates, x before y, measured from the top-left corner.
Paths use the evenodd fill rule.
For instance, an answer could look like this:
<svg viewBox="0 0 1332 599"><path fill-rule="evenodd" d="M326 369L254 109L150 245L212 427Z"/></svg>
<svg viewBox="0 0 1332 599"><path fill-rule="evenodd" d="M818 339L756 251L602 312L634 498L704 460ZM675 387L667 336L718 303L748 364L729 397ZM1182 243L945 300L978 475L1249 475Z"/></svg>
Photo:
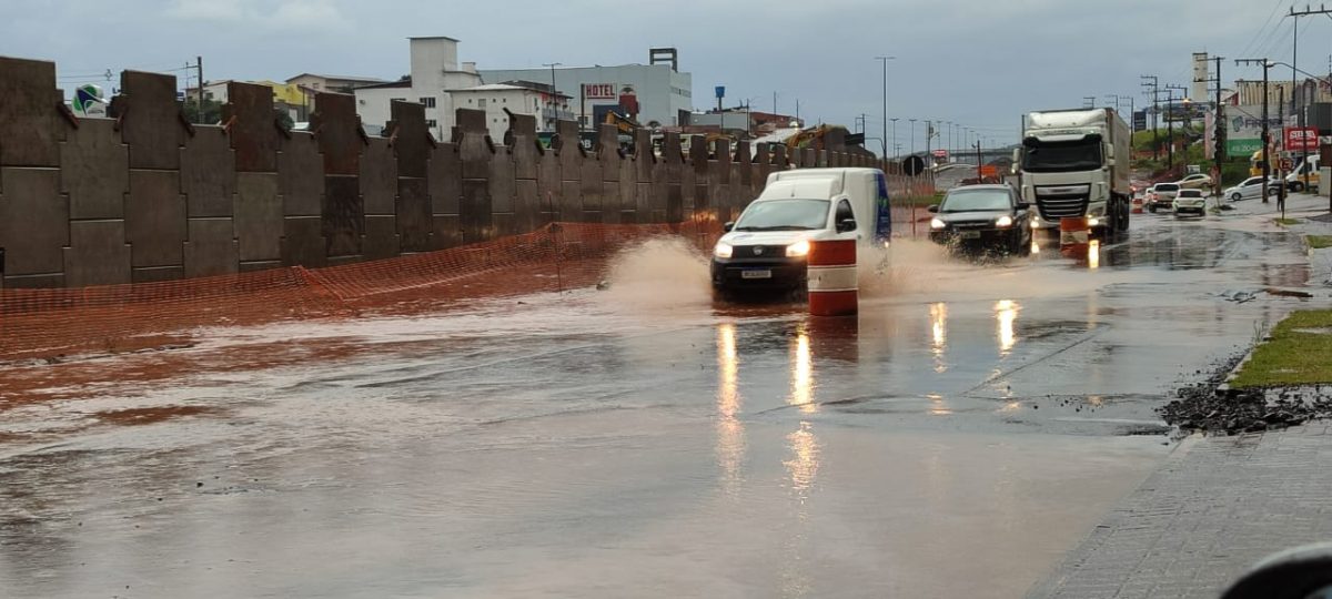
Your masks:
<svg viewBox="0 0 1332 599"><path fill-rule="evenodd" d="M555 148L513 116L505 145L458 110L434 140L425 110L394 102L368 137L352 96L320 93L310 132L284 130L272 91L230 83L220 125L185 121L173 76L127 71L115 118L76 118L53 63L0 57L0 286L61 288L325 266L432 252L554 221L733 220L769 173L878 166L838 150L647 132L623 156L614 128ZM753 156L751 156L753 154ZM891 170L890 170L891 172ZM890 176L895 193L906 181Z"/></svg>

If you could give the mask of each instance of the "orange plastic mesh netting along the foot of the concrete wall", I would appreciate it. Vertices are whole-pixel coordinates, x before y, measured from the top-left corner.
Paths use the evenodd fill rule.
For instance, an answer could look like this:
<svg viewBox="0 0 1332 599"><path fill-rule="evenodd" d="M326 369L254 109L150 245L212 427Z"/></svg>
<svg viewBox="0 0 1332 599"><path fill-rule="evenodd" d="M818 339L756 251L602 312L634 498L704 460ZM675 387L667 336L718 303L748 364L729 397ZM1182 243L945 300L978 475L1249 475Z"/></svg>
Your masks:
<svg viewBox="0 0 1332 599"><path fill-rule="evenodd" d="M468 298L593 285L615 252L657 236L709 246L717 222L551 224L440 252L321 269L83 289L0 290L0 362L186 342L206 326L441 310Z"/></svg>

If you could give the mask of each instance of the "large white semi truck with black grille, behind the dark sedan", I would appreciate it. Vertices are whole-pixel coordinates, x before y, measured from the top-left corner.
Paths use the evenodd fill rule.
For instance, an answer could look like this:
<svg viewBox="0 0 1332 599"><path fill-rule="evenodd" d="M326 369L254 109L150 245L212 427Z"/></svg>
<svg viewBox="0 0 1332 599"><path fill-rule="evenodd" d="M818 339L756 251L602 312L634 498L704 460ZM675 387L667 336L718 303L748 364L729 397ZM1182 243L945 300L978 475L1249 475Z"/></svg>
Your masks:
<svg viewBox="0 0 1332 599"><path fill-rule="evenodd" d="M1128 125L1110 108L1042 110L1023 116L1014 162L1022 198L1036 208L1032 228L1054 229L1064 217L1088 217L1103 237L1128 230Z"/></svg>

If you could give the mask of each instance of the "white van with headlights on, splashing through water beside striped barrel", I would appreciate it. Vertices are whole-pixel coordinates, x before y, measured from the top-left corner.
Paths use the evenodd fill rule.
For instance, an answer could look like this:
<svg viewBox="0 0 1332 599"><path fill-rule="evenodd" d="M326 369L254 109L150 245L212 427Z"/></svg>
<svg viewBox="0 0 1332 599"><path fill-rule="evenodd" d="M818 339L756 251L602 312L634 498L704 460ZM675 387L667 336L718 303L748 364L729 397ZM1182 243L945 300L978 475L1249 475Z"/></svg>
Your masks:
<svg viewBox="0 0 1332 599"><path fill-rule="evenodd" d="M713 249L713 288L803 290L811 240L854 238L863 262L878 260L891 234L888 182L882 170L773 173L739 220L726 224L726 234Z"/></svg>

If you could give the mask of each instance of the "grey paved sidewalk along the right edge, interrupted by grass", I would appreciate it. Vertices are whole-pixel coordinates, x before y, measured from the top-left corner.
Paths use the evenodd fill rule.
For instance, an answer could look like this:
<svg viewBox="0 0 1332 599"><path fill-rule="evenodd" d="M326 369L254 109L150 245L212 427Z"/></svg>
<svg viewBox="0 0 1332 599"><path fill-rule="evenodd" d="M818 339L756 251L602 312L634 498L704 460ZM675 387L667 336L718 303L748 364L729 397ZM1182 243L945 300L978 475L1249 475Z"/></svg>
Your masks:
<svg viewBox="0 0 1332 599"><path fill-rule="evenodd" d="M1221 218L1273 230L1276 201ZM1332 234L1328 198L1287 200L1296 234ZM1309 288L1332 249L1309 252ZM1309 307L1327 307L1325 294ZM1215 599L1263 558L1332 540L1332 421L1237 437L1193 435L1075 548L1031 598Z"/></svg>

